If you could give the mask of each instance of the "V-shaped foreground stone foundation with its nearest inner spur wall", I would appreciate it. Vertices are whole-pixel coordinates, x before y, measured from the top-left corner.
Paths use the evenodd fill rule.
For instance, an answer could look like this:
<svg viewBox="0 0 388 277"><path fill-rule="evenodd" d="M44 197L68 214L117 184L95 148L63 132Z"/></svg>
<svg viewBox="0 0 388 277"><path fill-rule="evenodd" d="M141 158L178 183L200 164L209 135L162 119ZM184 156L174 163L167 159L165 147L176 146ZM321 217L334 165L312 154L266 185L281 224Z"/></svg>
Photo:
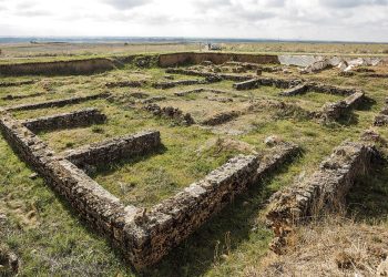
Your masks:
<svg viewBox="0 0 388 277"><path fill-rule="evenodd" d="M147 212L124 206L73 163L82 166L143 154L160 145L159 132L121 137L57 156L19 121L9 114L2 115L0 129L19 155L95 230L120 247L136 268L159 261L248 185L256 184L289 158L296 148L292 145L278 146L267 153L263 164L257 156L234 157L204 179Z"/></svg>

